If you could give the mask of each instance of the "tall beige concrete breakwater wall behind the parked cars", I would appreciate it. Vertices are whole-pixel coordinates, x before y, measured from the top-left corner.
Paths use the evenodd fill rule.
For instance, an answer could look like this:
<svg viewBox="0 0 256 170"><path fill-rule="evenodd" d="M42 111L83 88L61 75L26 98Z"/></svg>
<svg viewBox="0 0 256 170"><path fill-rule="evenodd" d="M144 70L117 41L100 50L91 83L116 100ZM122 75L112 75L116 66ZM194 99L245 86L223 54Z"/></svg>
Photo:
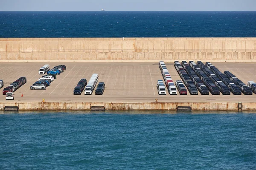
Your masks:
<svg viewBox="0 0 256 170"><path fill-rule="evenodd" d="M256 61L256 38L0 38L0 59Z"/></svg>

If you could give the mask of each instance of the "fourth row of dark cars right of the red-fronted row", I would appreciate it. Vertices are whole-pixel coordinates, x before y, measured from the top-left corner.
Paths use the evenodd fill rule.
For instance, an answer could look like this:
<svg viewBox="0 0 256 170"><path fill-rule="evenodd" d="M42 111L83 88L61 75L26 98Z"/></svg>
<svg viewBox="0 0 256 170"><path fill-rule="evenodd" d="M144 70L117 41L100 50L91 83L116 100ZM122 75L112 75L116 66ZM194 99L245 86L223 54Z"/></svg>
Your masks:
<svg viewBox="0 0 256 170"><path fill-rule="evenodd" d="M221 79L219 79L212 71L210 71L210 69L206 65L204 65L203 62L198 61L197 65L201 68L202 71L204 71L207 77L209 77L209 79L211 80L211 82L209 82L208 80L207 85L212 84L213 82L223 95L230 95L230 89L227 87L227 85L224 82L222 82Z"/></svg>

